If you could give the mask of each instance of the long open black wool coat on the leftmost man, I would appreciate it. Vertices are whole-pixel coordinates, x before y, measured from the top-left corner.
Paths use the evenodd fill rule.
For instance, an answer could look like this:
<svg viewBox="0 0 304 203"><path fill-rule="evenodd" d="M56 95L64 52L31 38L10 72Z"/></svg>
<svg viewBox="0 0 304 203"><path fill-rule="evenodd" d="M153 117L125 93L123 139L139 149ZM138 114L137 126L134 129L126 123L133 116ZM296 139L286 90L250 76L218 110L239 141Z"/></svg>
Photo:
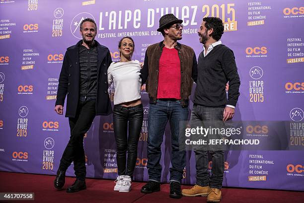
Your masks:
<svg viewBox="0 0 304 203"><path fill-rule="evenodd" d="M67 49L59 76L55 105L64 106L67 96L66 117L70 118L76 116L79 100L79 46L81 41ZM102 46L96 40L95 43L97 44L96 115L109 115L112 113L112 106L108 95L107 69L112 63L112 58L107 47Z"/></svg>

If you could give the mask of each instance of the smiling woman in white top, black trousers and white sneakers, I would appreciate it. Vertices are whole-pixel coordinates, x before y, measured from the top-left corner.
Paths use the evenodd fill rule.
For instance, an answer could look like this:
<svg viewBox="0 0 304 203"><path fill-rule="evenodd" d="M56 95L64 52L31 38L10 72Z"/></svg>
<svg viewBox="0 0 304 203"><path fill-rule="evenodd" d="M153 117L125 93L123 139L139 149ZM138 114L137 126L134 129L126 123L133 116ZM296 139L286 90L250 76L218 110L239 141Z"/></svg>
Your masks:
<svg viewBox="0 0 304 203"><path fill-rule="evenodd" d="M108 82L109 84L114 82L115 86L113 125L117 146L118 177L114 191L129 192L144 118L141 102L142 79L139 61L131 59L134 52L133 39L122 38L118 48L120 61L113 62L108 68Z"/></svg>

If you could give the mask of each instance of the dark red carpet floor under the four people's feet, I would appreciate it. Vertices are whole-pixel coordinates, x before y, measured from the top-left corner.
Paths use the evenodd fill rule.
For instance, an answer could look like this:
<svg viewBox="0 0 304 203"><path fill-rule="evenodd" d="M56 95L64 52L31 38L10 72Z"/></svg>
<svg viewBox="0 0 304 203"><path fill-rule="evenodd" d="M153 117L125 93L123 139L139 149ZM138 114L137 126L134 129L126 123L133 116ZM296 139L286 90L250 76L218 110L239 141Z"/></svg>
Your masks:
<svg viewBox="0 0 304 203"><path fill-rule="evenodd" d="M0 192L34 192L35 201L0 201L1 203L206 203L206 198L169 198L169 184L152 194L140 192L145 183L132 183L130 193L113 191L114 181L86 179L87 189L77 193L57 191L53 187L55 176L0 172ZM75 178L66 178L65 189ZM182 186L190 188L191 186ZM222 203L304 203L303 192L224 188Z"/></svg>

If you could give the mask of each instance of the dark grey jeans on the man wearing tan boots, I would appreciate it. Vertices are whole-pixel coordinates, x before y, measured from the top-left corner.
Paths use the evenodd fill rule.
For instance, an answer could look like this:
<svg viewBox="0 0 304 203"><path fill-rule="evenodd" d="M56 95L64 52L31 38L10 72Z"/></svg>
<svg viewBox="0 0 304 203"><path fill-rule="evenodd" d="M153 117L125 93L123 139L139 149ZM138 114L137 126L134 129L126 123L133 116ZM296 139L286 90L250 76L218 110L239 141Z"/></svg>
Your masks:
<svg viewBox="0 0 304 203"><path fill-rule="evenodd" d="M194 105L191 112L191 121L222 121L223 107L205 107ZM224 123L223 123L224 124ZM219 126L220 127L220 126ZM209 151L212 155L211 177L208 173L207 150L196 150L196 184L199 186L210 186L211 188L222 188L224 175L224 150Z"/></svg>

